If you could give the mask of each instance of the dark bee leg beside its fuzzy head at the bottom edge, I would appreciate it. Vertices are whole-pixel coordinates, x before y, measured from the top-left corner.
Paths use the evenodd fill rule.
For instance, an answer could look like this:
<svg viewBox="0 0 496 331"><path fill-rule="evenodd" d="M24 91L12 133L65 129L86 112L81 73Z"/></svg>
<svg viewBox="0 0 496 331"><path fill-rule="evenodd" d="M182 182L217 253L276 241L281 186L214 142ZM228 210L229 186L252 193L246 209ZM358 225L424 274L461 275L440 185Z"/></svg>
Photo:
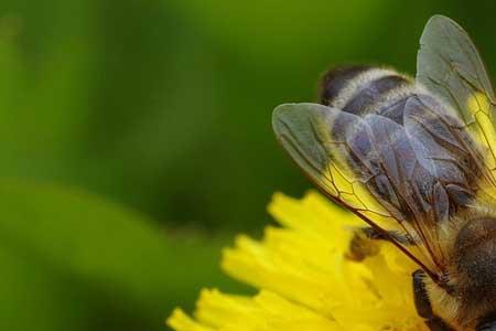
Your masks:
<svg viewBox="0 0 496 331"><path fill-rule="evenodd" d="M423 279L427 277L421 269L413 271L413 297L416 301L417 313L425 320L425 324L431 331L454 331L434 311L432 311L431 300L425 290Z"/></svg>

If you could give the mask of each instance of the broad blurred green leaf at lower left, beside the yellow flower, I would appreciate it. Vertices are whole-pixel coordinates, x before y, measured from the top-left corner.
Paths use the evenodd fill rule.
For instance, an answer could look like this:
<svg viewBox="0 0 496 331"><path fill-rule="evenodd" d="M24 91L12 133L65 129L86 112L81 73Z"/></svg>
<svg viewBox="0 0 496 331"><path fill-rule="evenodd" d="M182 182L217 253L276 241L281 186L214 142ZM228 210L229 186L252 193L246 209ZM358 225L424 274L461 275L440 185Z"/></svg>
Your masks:
<svg viewBox="0 0 496 331"><path fill-rule="evenodd" d="M218 273L222 237L168 239L101 197L19 181L0 184L0 324L9 330L160 330L203 286L242 290Z"/></svg>

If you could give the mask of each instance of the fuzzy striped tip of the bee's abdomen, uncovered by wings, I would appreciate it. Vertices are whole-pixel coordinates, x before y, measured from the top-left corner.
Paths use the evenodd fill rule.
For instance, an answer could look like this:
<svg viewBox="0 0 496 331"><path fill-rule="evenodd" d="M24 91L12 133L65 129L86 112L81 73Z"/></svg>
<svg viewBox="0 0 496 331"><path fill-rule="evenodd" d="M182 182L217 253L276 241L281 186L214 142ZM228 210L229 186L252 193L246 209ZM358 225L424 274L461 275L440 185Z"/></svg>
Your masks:
<svg viewBox="0 0 496 331"><path fill-rule="evenodd" d="M402 124L405 103L414 93L409 77L369 66L338 67L324 75L321 103L358 116L378 114Z"/></svg>

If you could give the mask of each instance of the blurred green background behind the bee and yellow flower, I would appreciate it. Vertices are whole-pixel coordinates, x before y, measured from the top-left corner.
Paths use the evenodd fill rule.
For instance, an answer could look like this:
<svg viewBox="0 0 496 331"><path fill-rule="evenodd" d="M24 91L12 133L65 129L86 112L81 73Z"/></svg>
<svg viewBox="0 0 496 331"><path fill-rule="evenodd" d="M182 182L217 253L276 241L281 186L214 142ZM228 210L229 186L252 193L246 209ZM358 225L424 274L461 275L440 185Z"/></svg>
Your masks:
<svg viewBox="0 0 496 331"><path fill-rule="evenodd" d="M272 108L315 99L337 63L413 73L444 13L496 73L476 1L3 0L0 328L164 330L259 234L272 192L310 188Z"/></svg>

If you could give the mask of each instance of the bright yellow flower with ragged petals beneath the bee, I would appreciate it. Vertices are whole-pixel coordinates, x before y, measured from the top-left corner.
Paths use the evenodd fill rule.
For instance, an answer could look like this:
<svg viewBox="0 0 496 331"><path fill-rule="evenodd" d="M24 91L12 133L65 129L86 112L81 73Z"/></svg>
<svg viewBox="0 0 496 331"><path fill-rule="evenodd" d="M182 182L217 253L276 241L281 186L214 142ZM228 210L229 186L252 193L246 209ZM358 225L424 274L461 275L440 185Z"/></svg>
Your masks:
<svg viewBox="0 0 496 331"><path fill-rule="evenodd" d="M260 289L255 297L203 290L194 319L176 309L176 331L428 330L416 313L412 263L387 243L356 263L345 257L360 220L315 192L302 200L274 194L281 225L261 242L236 238L223 269Z"/></svg>

